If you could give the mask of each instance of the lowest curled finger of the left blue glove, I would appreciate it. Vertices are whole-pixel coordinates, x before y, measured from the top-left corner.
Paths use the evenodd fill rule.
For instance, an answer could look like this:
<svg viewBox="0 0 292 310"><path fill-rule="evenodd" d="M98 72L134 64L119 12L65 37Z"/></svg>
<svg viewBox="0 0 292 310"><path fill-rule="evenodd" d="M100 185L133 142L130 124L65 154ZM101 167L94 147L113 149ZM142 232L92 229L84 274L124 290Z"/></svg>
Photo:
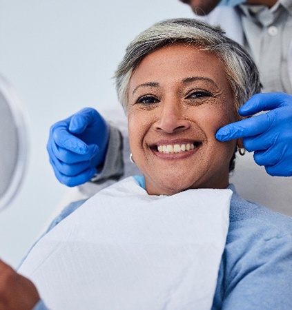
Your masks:
<svg viewBox="0 0 292 310"><path fill-rule="evenodd" d="M84 184L90 180L90 178L93 178L93 176L96 174L97 170L94 167L88 168L78 174L77 176L66 176L64 174L61 174L58 169L56 169L54 163L52 162L50 158L50 163L54 169L55 176L59 180L60 183L67 185L68 187L74 187L77 185Z"/></svg>

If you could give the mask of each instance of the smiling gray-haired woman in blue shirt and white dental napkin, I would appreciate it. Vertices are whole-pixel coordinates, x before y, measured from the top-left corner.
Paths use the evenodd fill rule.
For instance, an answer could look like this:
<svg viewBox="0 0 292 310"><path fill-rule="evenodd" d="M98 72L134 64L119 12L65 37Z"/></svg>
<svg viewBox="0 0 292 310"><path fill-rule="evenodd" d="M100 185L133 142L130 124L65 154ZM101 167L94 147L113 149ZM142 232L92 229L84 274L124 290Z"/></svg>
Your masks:
<svg viewBox="0 0 292 310"><path fill-rule="evenodd" d="M215 138L260 91L250 56L217 28L162 21L116 82L143 177L70 205L19 271L52 309L291 309L292 220L236 194L242 143Z"/></svg>

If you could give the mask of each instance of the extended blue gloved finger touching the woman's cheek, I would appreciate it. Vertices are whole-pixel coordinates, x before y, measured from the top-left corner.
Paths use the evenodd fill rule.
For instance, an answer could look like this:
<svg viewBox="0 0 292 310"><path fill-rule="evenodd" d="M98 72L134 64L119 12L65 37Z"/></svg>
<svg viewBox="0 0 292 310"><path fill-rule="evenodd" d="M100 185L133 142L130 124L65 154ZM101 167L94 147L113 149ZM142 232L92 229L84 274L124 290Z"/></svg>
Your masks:
<svg viewBox="0 0 292 310"><path fill-rule="evenodd" d="M274 117L275 112L271 111L228 124L216 132L216 138L224 142L245 136L257 136L271 127Z"/></svg>

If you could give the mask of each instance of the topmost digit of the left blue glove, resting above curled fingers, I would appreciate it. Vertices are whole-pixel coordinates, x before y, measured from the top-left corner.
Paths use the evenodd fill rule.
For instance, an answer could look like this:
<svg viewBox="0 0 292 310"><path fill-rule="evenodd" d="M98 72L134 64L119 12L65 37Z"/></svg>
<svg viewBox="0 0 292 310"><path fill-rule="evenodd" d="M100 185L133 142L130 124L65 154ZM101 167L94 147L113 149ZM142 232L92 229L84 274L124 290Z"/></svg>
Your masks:
<svg viewBox="0 0 292 310"><path fill-rule="evenodd" d="M84 130L86 130L88 125L92 125L93 123L99 121L99 119L99 113L95 109L85 107L72 116L69 131L72 132L72 134L81 134Z"/></svg>

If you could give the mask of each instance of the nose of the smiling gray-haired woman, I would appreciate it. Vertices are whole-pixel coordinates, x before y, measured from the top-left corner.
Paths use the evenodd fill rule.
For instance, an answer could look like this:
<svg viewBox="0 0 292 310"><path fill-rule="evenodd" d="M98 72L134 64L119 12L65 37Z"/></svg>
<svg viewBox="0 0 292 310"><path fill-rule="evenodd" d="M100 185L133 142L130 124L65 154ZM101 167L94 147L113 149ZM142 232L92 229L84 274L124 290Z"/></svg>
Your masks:
<svg viewBox="0 0 292 310"><path fill-rule="evenodd" d="M183 107L177 101L167 101L162 104L154 126L157 131L172 134L187 130L190 122L184 117Z"/></svg>

